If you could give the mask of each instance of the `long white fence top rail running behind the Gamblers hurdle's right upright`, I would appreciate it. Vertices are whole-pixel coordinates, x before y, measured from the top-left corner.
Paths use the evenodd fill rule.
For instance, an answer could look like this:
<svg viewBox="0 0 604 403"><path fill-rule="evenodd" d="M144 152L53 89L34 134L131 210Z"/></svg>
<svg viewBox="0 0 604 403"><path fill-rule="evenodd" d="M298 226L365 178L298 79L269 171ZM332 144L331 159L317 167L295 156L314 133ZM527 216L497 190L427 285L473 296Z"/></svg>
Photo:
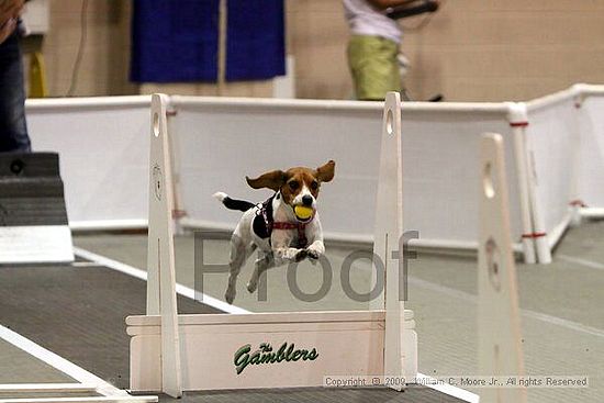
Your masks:
<svg viewBox="0 0 604 403"><path fill-rule="evenodd" d="M172 96L171 104L177 109L195 109L203 107L237 107L249 109L284 109L284 110L331 110L359 112L370 111L382 113L383 102L377 101L340 101L340 100L303 100L273 98L221 98ZM404 102L402 112L468 112L506 114L505 102Z"/></svg>

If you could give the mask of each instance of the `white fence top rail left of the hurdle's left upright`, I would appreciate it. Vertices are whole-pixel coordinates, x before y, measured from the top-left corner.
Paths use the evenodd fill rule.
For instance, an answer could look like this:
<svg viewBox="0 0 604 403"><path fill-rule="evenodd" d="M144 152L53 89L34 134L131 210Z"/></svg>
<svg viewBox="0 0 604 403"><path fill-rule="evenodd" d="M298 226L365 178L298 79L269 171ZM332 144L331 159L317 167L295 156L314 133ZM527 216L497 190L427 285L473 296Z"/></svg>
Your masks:
<svg viewBox="0 0 604 403"><path fill-rule="evenodd" d="M78 97L78 98L44 98L27 99L25 107L29 112L55 109L94 109L94 108L149 108L150 96L125 97Z"/></svg>

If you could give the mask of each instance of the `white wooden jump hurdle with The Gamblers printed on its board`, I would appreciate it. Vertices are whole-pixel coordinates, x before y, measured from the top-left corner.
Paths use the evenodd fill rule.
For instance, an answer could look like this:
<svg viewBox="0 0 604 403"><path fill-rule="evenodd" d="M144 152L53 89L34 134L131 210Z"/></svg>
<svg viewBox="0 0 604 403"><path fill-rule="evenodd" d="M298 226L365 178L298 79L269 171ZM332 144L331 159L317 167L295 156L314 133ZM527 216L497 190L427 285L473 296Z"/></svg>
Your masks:
<svg viewBox="0 0 604 403"><path fill-rule="evenodd" d="M147 314L126 318L131 390L179 396L183 390L318 387L326 376L415 378L413 313L404 311L398 281L403 253L398 250L403 234L399 94L390 93L384 109L373 248L385 268L384 301L380 310L351 312L177 314L167 102L165 96L153 97ZM299 352L286 354L288 359L282 351L281 359L254 365L255 351L287 352L292 346ZM250 365L244 366L246 358Z"/></svg>

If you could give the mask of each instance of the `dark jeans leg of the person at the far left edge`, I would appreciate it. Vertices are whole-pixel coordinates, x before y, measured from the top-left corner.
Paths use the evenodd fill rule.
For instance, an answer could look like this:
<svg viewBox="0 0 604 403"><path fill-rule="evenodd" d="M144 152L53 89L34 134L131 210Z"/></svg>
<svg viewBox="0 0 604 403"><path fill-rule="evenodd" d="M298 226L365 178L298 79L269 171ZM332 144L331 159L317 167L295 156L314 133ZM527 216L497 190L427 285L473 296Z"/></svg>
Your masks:
<svg viewBox="0 0 604 403"><path fill-rule="evenodd" d="M19 37L0 44L0 153L31 152L25 123L23 60Z"/></svg>

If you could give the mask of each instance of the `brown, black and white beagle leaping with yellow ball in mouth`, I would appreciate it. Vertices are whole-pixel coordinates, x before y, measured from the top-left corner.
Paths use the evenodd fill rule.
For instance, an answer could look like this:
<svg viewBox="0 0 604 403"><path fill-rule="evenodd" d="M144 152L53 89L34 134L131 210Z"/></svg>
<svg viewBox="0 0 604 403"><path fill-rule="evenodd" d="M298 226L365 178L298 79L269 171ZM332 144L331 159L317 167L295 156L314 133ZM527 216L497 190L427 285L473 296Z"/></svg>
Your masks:
<svg viewBox="0 0 604 403"><path fill-rule="evenodd" d="M237 276L257 248L261 254L247 283L249 292L256 291L258 278L265 270L305 257L316 260L325 253L316 198L321 183L331 181L334 172L335 163L329 160L316 169L298 167L266 172L256 179L246 177L251 188L275 191L258 204L231 199L223 192L214 193L227 209L244 212L231 237L226 302L231 304L235 300Z"/></svg>

